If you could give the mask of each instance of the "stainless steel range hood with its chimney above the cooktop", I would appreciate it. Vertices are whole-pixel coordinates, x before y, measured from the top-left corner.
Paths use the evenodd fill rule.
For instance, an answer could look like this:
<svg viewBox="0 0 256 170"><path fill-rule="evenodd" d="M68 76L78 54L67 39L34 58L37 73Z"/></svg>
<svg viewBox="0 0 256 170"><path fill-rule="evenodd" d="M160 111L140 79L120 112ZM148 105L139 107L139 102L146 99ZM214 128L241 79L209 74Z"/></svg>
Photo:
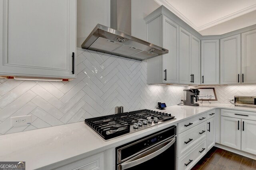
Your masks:
<svg viewBox="0 0 256 170"><path fill-rule="evenodd" d="M110 27L97 24L82 48L140 61L168 53L167 49L131 36L131 0L110 0Z"/></svg>

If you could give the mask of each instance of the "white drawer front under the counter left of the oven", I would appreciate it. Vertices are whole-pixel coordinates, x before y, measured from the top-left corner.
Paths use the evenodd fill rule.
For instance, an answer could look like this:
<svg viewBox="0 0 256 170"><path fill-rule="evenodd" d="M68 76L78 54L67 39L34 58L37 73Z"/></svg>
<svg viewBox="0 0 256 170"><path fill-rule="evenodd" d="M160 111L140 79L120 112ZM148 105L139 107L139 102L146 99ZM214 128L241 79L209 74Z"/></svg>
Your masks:
<svg viewBox="0 0 256 170"><path fill-rule="evenodd" d="M104 170L104 152L62 166L55 170Z"/></svg>

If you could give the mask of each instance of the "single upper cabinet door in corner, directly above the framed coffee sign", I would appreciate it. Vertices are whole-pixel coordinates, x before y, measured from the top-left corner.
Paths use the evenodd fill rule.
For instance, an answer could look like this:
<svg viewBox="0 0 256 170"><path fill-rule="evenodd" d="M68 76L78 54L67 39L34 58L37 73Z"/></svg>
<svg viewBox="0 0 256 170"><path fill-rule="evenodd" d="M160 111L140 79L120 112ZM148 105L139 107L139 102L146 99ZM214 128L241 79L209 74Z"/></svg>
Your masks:
<svg viewBox="0 0 256 170"><path fill-rule="evenodd" d="M220 40L201 40L201 84L220 83Z"/></svg>

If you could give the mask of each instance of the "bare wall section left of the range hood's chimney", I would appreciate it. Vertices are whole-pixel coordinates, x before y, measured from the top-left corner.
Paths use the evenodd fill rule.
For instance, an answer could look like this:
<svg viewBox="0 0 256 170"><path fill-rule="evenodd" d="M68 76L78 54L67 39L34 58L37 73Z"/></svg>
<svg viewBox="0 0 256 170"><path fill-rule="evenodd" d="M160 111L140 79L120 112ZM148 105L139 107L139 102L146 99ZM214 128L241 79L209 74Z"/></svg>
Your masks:
<svg viewBox="0 0 256 170"><path fill-rule="evenodd" d="M96 24L110 27L110 0L77 0L77 47L81 47Z"/></svg>

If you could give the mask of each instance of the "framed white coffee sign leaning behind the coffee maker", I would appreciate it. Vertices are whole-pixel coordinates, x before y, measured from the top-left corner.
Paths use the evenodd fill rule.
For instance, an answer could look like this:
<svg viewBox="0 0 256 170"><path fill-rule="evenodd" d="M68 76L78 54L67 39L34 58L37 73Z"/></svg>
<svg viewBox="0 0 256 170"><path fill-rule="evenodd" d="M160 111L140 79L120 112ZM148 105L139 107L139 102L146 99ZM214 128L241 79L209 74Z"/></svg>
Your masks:
<svg viewBox="0 0 256 170"><path fill-rule="evenodd" d="M198 88L198 99L202 101L216 101L217 96L214 88Z"/></svg>

